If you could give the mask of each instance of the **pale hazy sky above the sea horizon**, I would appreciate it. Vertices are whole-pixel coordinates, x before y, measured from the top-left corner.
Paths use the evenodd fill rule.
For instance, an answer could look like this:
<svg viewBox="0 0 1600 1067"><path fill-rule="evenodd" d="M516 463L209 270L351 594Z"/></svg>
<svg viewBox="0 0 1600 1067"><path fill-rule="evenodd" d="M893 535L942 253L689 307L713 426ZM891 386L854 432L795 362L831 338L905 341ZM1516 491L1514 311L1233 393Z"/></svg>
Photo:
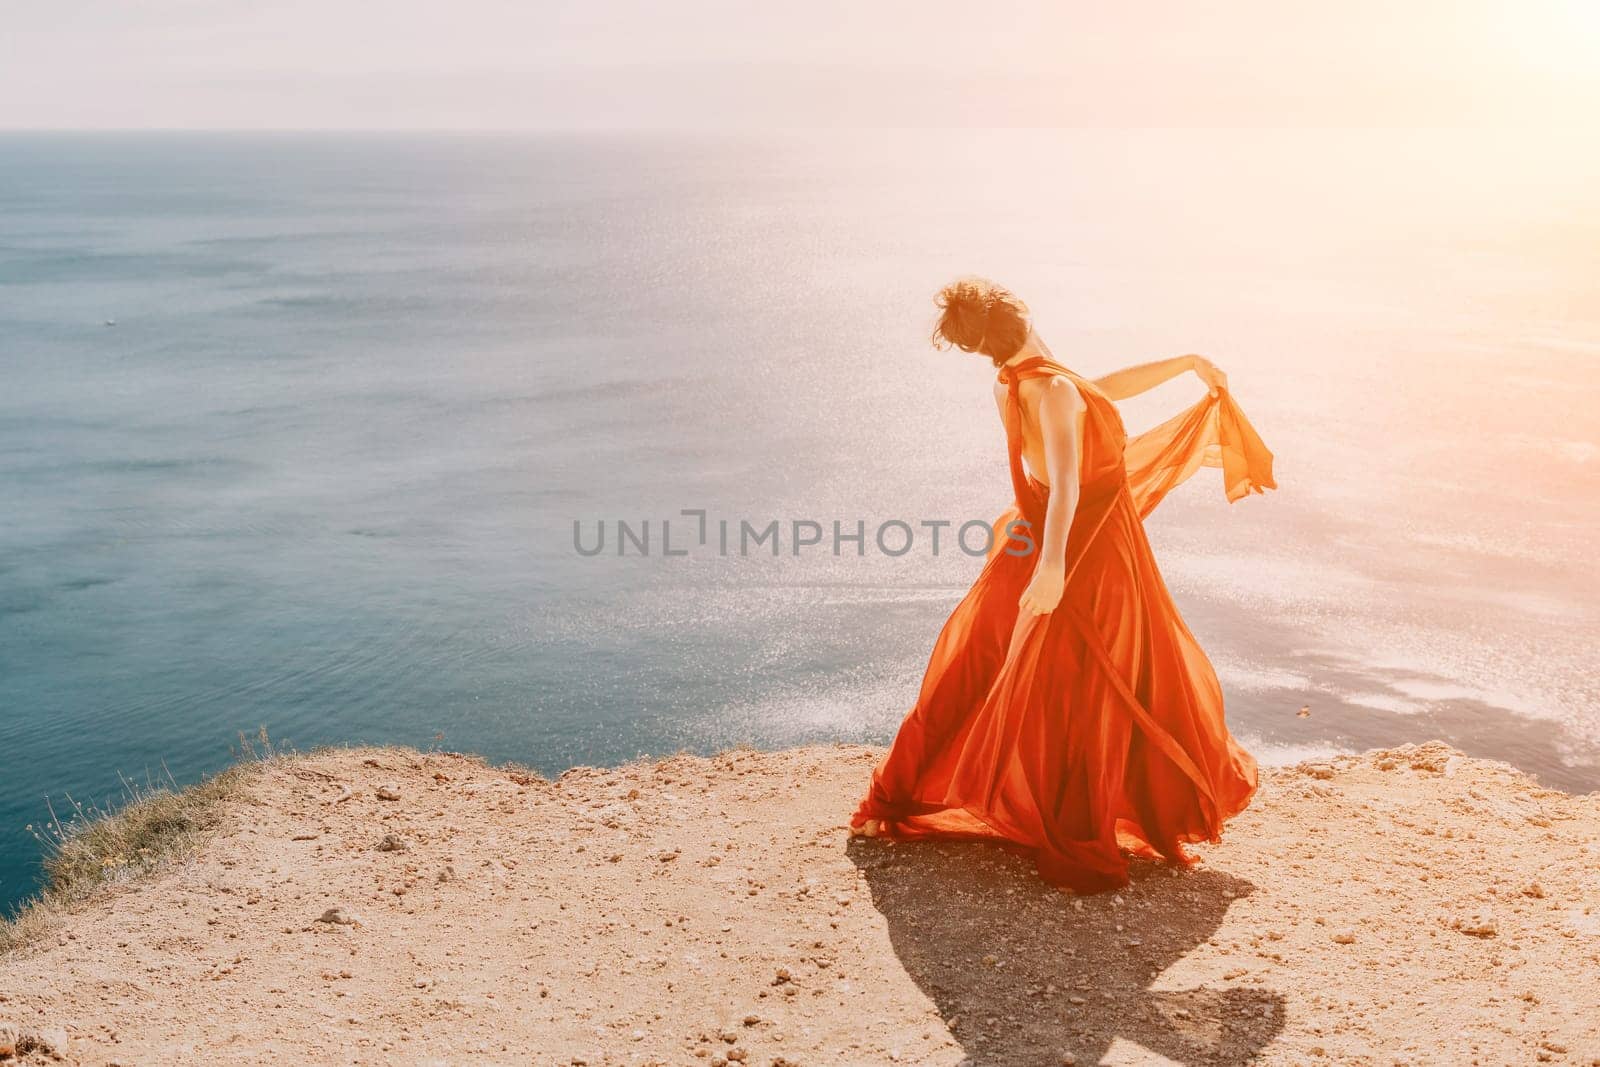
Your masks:
<svg viewBox="0 0 1600 1067"><path fill-rule="evenodd" d="M1594 123L1600 0L0 0L0 128Z"/></svg>

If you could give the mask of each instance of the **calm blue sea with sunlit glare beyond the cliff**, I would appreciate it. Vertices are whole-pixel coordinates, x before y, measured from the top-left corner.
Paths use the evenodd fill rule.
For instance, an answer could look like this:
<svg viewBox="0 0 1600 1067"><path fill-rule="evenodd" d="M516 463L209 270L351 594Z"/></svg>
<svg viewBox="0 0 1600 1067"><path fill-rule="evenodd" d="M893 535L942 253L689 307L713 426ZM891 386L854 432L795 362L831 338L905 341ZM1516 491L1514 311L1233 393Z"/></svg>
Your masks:
<svg viewBox="0 0 1600 1067"><path fill-rule="evenodd" d="M1600 787L1597 178L1456 134L0 136L0 905L46 795L261 726L552 773L888 739L979 566L922 523L1008 494L990 371L926 346L965 272L1085 373L1230 371L1283 488L1203 472L1150 534L1264 758Z"/></svg>

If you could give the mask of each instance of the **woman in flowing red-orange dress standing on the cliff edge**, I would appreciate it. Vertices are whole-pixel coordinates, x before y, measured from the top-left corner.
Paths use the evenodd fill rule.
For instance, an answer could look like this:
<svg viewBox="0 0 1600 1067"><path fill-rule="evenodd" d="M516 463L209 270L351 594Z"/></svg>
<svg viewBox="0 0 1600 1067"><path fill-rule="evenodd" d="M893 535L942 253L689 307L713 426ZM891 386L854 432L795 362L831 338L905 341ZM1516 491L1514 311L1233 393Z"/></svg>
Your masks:
<svg viewBox="0 0 1600 1067"><path fill-rule="evenodd" d="M1126 885L1130 854L1189 865L1184 843L1216 840L1250 803L1256 761L1227 733L1142 518L1200 466L1222 467L1230 501L1275 488L1272 454L1198 355L1088 381L1002 286L955 282L938 306L934 344L998 368L1016 506L851 830L1006 841L1077 893ZM1128 438L1112 402L1189 370L1208 397Z"/></svg>

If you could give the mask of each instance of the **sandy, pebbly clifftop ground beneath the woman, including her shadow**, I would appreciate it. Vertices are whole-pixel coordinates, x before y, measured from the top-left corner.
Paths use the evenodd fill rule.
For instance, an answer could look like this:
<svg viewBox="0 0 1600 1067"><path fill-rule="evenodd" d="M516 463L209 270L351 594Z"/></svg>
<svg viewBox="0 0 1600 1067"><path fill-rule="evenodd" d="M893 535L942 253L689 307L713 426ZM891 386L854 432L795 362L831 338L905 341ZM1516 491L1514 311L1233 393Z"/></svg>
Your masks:
<svg viewBox="0 0 1600 1067"><path fill-rule="evenodd" d="M878 755L267 761L195 859L0 960L0 1049L1600 1064L1600 793L1443 745L1270 771L1200 869L1077 899L994 846L850 840Z"/></svg>

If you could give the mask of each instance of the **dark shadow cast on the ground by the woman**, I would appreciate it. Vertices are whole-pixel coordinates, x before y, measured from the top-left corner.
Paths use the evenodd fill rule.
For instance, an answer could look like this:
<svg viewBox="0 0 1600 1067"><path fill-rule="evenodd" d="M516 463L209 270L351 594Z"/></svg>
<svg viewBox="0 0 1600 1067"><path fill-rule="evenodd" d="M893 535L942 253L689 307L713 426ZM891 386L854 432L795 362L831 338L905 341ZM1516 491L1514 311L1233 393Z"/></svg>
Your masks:
<svg viewBox="0 0 1600 1067"><path fill-rule="evenodd" d="M1283 1025L1270 990L1150 989L1251 891L1240 878L1142 865L1122 894L1077 907L992 845L856 838L850 857L974 1067L1061 1064L1064 1053L1098 1064L1117 1038L1179 1064L1238 1064Z"/></svg>

